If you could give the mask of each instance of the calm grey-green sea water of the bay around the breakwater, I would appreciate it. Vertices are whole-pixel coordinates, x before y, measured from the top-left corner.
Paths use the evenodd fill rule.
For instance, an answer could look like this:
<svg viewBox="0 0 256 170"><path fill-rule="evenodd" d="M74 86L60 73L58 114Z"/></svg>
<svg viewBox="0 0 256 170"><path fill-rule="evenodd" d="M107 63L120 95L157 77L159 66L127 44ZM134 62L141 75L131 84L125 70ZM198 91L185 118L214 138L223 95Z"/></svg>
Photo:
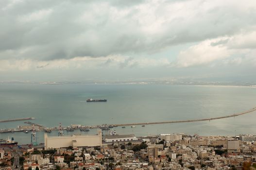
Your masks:
<svg viewBox="0 0 256 170"><path fill-rule="evenodd" d="M87 99L107 99L89 102ZM0 129L17 128L31 121L47 127L71 124L101 125L169 120L214 118L243 112L256 106L256 88L215 85L156 84L76 84L38 85L1 84L0 119L34 117L34 120L0 123ZM115 127L117 134L153 136L184 133L200 136L256 135L256 112L238 117L200 122ZM109 134L103 131L103 135ZM97 134L64 131L64 135ZM57 136L53 131L49 136ZM0 133L0 139L14 137L19 144L31 142L31 134ZM44 132L37 132L37 142L44 142Z"/></svg>

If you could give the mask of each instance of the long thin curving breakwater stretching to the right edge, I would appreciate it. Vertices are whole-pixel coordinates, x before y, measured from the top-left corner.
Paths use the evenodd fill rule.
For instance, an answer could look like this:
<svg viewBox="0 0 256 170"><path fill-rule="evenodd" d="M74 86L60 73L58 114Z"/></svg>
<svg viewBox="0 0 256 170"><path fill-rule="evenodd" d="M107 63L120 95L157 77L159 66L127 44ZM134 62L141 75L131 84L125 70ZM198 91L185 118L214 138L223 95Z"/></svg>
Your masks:
<svg viewBox="0 0 256 170"><path fill-rule="evenodd" d="M170 120L170 121L156 121L156 122L142 122L142 123L125 123L125 124L114 124L115 126L131 126L131 125L146 125L146 124L164 124L164 123L183 123L183 122L193 122L193 121L205 121L205 120L215 120L215 119L224 119L224 118L231 118L231 117L237 117L240 115L244 115L247 113L251 113L256 111L256 107L241 112L236 113L228 116L221 116L221 117L215 117L215 118L204 118L204 119L190 119L190 120Z"/></svg>

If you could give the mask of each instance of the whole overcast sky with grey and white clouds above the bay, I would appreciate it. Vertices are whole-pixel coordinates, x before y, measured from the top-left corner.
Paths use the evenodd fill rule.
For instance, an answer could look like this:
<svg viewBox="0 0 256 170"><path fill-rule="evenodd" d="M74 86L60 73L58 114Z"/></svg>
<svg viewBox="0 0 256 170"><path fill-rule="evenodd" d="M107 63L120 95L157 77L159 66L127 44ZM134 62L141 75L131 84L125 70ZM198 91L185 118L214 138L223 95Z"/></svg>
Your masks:
<svg viewBox="0 0 256 170"><path fill-rule="evenodd" d="M256 0L0 0L0 81L256 81Z"/></svg>

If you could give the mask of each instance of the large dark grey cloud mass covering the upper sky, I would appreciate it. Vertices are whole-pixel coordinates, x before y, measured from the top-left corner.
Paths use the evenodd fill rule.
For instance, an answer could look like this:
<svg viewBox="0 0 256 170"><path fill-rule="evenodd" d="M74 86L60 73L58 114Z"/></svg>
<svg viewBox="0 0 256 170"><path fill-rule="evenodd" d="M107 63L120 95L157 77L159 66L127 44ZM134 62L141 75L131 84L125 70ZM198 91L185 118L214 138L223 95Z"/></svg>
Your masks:
<svg viewBox="0 0 256 170"><path fill-rule="evenodd" d="M0 6L0 59L148 54L256 25L254 1L2 0Z"/></svg>

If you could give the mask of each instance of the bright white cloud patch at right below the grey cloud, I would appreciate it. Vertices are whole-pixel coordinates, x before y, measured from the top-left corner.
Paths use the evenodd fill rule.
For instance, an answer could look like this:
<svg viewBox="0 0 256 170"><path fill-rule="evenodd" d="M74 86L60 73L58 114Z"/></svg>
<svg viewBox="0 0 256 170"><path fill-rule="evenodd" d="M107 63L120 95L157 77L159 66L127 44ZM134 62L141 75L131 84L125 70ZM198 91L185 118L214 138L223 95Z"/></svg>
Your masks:
<svg viewBox="0 0 256 170"><path fill-rule="evenodd" d="M175 66L209 65L216 61L228 65L251 65L256 60L254 37L256 37L255 31L202 41L180 51Z"/></svg>

